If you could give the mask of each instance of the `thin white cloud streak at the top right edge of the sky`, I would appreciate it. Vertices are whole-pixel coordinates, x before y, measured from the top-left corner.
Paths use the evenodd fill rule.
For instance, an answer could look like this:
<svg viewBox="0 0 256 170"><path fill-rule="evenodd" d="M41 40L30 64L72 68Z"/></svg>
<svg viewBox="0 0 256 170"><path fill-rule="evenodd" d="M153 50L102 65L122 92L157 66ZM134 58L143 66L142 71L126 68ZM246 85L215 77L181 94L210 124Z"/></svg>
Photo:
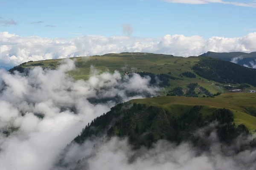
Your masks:
<svg viewBox="0 0 256 170"><path fill-rule="evenodd" d="M187 4L208 4L208 3L222 3L222 4L229 4L229 5L235 5L235 6L244 6L244 7L251 7L256 8L255 1L250 2L243 2L239 3L236 1L230 2L225 0L162 0L168 3L187 3Z"/></svg>

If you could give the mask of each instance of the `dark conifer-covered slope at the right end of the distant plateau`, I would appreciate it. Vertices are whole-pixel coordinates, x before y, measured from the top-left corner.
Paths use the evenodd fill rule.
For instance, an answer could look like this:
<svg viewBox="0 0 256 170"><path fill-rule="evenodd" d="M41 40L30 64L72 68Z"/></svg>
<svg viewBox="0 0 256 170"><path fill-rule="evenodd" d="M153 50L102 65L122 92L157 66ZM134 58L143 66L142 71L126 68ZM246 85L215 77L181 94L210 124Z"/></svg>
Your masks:
<svg viewBox="0 0 256 170"><path fill-rule="evenodd" d="M192 67L193 71L201 77L221 83L247 83L256 86L256 69L246 68L232 62L201 58Z"/></svg>

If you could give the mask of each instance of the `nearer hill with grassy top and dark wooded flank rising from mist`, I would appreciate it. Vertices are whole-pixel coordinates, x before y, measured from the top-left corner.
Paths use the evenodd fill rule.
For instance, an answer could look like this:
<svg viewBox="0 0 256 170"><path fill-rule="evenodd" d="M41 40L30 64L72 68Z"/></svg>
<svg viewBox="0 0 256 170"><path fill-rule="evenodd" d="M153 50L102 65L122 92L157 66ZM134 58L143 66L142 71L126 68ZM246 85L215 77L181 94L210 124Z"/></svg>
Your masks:
<svg viewBox="0 0 256 170"><path fill-rule="evenodd" d="M193 84L190 86L195 88ZM160 139L177 144L189 141L194 147L209 150L210 142L207 138L215 130L220 142L229 145L239 135L247 136L256 130L256 117L252 116L255 108L251 107L256 105L255 96L256 94L237 93L233 96L221 94L215 98L161 96L134 99L118 104L108 113L94 119L73 142L83 144L86 140L93 139L104 142L112 136L118 136L128 137L134 150L141 146L152 147ZM214 123L215 121L219 124ZM196 130L203 127L207 128L198 136ZM64 153L73 142L67 145ZM256 139L250 143L242 143L236 148L236 153L252 147L256 147ZM84 160L78 161L76 168L82 162ZM58 166L68 166L64 163L64 157L58 161Z"/></svg>

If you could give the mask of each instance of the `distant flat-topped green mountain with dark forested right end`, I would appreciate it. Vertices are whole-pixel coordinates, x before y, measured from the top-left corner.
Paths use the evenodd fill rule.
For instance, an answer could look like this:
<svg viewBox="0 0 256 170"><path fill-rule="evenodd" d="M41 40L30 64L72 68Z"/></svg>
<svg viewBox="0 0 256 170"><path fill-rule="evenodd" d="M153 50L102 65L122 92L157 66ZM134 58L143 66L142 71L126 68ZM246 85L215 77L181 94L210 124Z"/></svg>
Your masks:
<svg viewBox="0 0 256 170"><path fill-rule="evenodd" d="M93 69L98 70L99 72L109 71L113 73L115 70L118 70L120 74L125 74L125 72L131 73L149 73L152 75L163 75L166 74L165 77L169 77L169 83L166 83L165 90L166 92L172 91L173 88L182 87L186 88L187 85L190 83L198 83L199 86L202 88L207 89L212 94L216 94L218 92L224 93L228 92L224 86L217 86L216 84L224 83L246 83L246 82L237 82L234 81L238 78L243 78L245 80L251 79L251 75L256 73L256 70L247 71L247 68L241 67L239 65L231 64L230 62L222 62L221 59L215 59L215 65L209 65L209 61L212 61L214 58L210 57L177 57L172 55L165 55L165 54L152 54L152 53L121 53L121 54L104 54L102 56L90 56L90 57L74 57L70 58L75 60L77 69L69 71L68 74L70 77L74 79L89 79L91 66L93 65ZM206 61L208 64L206 65ZM61 59L50 59L44 61L35 61L35 62L24 62L19 66L16 66L9 70L9 72L13 73L15 70L20 72L28 73L30 69L34 67L42 67L43 69L56 69L60 64ZM196 65L199 67L195 67ZM220 66L223 65L223 66ZM229 65L229 66L227 66ZM211 66L211 71L214 74L201 74L201 71L198 69L204 69L208 66ZM218 66L218 71L215 68ZM220 79L216 79L219 77L224 68L228 68L232 66L232 69L229 69L228 74L232 77L222 77L221 82ZM239 71L248 72L241 77ZM206 70L209 71L209 70ZM189 76L189 74L194 76ZM168 75L168 76L167 76ZM184 76L185 75L185 76ZM211 77L209 77L211 75ZM172 77L172 78L170 78ZM151 79L154 77L151 77ZM255 85L253 81L247 81L250 85ZM249 90L256 90L253 86L245 88L244 91L247 92ZM165 92L165 94L166 94Z"/></svg>

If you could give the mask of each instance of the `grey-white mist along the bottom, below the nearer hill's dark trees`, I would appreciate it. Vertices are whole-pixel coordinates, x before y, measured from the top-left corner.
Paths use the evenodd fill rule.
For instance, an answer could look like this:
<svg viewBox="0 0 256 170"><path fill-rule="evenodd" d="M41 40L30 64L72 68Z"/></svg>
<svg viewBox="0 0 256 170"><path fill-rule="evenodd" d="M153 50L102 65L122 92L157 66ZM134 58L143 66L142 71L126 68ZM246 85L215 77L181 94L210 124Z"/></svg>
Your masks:
<svg viewBox="0 0 256 170"><path fill-rule="evenodd" d="M213 128L209 136L204 130ZM254 170L256 168L256 150L245 149L236 153L248 139L239 136L233 144L219 142L214 125L198 130L209 150L201 150L189 142L179 145L160 140L153 148L132 150L127 139L111 138L106 143L99 144L92 150L89 141L85 142L80 150L72 148L73 156L85 156L76 169L72 170ZM96 142L95 142L96 143ZM71 151L70 151L70 153ZM69 159L73 157L69 156ZM131 161L133 159L133 161ZM69 167L70 168L70 167ZM70 170L55 168L54 170Z"/></svg>

